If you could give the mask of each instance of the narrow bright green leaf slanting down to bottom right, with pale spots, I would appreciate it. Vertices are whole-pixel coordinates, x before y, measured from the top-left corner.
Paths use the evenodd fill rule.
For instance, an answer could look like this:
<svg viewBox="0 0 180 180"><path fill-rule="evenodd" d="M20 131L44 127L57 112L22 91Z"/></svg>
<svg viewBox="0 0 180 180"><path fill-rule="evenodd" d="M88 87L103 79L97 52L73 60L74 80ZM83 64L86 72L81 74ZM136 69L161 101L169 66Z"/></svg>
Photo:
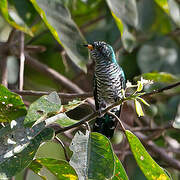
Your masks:
<svg viewBox="0 0 180 180"><path fill-rule="evenodd" d="M138 166L148 180L170 180L164 170L152 159L139 139L129 130L125 131L131 151Z"/></svg>

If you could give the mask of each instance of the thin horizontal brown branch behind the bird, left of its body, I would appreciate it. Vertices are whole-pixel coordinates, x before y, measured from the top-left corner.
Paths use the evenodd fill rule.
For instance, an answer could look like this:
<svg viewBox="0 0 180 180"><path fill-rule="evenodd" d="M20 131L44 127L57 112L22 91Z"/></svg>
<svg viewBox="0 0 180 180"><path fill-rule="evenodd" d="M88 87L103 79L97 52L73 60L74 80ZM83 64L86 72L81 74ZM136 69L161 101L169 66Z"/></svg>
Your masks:
<svg viewBox="0 0 180 180"><path fill-rule="evenodd" d="M47 91L32 91L32 90L17 90L13 89L12 92L15 92L22 96L43 96L43 95L49 95L51 92ZM60 98L62 99L74 99L74 98L88 98L92 97L93 94L90 92L85 93L57 93Z"/></svg>

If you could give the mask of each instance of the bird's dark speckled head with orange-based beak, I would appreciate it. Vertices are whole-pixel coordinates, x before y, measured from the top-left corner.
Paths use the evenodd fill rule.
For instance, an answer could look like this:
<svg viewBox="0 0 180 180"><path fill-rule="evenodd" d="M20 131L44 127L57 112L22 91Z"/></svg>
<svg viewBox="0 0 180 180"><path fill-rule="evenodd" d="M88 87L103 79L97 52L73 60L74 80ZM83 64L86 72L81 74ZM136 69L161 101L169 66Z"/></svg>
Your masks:
<svg viewBox="0 0 180 180"><path fill-rule="evenodd" d="M90 50L91 58L96 62L114 62L116 63L115 54L113 48L103 42L103 41L96 41L91 44L84 45Z"/></svg>

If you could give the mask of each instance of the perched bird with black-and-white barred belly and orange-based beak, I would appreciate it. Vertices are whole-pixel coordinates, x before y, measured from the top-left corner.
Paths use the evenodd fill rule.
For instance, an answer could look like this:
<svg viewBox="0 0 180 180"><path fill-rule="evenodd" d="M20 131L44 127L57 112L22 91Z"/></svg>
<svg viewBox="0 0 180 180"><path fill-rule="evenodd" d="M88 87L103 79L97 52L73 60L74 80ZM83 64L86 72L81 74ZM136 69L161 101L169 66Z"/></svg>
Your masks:
<svg viewBox="0 0 180 180"><path fill-rule="evenodd" d="M96 110L102 110L122 98L122 89L125 88L125 75L118 65L113 48L102 41L84 45L90 50L92 60L95 62L94 73L94 99ZM111 112L120 116L121 107L111 109ZM104 114L98 117L93 126L94 132L99 132L109 139L113 137L117 121L114 116Z"/></svg>

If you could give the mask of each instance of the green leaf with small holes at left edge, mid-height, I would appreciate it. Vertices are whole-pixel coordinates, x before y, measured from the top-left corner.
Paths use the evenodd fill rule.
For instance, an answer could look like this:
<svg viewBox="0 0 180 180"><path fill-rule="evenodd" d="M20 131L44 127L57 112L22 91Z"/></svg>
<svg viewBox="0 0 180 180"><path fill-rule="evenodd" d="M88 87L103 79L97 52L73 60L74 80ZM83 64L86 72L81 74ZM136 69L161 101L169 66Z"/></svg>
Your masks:
<svg viewBox="0 0 180 180"><path fill-rule="evenodd" d="M0 85L0 122L11 122L26 115L26 107L19 95Z"/></svg>

